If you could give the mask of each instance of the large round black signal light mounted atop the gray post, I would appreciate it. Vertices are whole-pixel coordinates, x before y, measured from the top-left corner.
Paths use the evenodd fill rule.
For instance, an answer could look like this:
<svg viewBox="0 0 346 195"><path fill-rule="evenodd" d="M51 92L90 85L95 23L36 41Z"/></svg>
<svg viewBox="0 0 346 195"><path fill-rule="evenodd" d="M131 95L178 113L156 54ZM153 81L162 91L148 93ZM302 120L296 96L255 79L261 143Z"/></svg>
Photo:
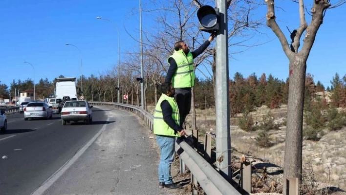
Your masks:
<svg viewBox="0 0 346 195"><path fill-rule="evenodd" d="M199 30L213 33L219 29L219 11L210 5L203 5L197 11Z"/></svg>

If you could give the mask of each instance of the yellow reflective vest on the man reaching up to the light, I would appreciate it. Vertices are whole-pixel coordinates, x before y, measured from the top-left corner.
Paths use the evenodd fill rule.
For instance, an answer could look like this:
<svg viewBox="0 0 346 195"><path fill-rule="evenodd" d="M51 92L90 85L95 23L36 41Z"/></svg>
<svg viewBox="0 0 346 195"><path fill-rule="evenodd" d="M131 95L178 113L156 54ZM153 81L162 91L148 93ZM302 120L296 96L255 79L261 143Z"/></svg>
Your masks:
<svg viewBox="0 0 346 195"><path fill-rule="evenodd" d="M167 61L173 58L177 69L172 78L174 88L185 88L195 86L194 58L191 53L186 56L183 50L174 51Z"/></svg>

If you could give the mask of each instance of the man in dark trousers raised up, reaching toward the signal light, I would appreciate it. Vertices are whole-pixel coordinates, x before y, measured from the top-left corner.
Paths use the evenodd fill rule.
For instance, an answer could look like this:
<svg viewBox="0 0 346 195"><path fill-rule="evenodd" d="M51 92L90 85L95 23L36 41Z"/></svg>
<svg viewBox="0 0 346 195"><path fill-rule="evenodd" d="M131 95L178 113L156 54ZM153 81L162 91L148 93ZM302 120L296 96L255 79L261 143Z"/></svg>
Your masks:
<svg viewBox="0 0 346 195"><path fill-rule="evenodd" d="M170 64L165 82L173 84L174 98L179 107L180 127L183 127L186 115L191 109L191 87L195 86L194 59L210 45L215 34L211 34L198 49L190 52L189 45L183 41L174 44L174 53L167 61Z"/></svg>

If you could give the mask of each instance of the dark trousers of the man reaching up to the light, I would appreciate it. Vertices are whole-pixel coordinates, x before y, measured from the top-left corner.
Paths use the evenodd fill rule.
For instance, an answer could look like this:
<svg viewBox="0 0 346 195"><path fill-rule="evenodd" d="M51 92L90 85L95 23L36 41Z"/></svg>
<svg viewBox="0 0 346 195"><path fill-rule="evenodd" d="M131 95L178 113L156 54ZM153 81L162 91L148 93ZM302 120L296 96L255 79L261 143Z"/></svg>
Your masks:
<svg viewBox="0 0 346 195"><path fill-rule="evenodd" d="M191 110L191 87L175 88L174 99L179 108L180 127L183 128L186 115Z"/></svg>

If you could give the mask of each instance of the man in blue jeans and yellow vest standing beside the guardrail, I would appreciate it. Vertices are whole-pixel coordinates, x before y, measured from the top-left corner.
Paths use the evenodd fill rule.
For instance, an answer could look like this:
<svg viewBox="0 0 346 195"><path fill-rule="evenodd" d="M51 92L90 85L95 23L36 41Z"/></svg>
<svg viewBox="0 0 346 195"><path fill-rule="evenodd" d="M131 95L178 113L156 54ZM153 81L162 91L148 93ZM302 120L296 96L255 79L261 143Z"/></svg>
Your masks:
<svg viewBox="0 0 346 195"><path fill-rule="evenodd" d="M174 100L174 87L171 83L163 83L161 92L153 115L153 131L161 149L158 167L159 188L180 189L182 186L173 182L171 165L174 160L175 138L185 135L186 132L179 124L179 109Z"/></svg>

